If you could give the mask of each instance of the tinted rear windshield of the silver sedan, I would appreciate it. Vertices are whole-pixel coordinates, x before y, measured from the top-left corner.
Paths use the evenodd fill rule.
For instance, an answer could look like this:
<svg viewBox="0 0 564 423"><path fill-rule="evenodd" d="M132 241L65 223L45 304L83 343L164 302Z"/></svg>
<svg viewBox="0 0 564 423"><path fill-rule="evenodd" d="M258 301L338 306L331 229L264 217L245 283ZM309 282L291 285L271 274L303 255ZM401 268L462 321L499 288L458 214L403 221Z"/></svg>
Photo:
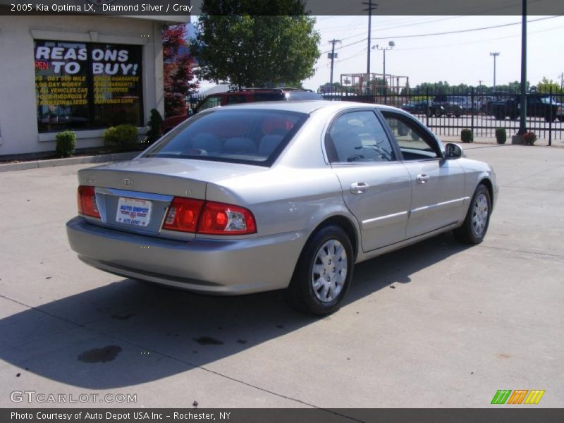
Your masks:
<svg viewBox="0 0 564 423"><path fill-rule="evenodd" d="M269 166L307 114L260 109L219 109L192 116L142 157L176 157Z"/></svg>

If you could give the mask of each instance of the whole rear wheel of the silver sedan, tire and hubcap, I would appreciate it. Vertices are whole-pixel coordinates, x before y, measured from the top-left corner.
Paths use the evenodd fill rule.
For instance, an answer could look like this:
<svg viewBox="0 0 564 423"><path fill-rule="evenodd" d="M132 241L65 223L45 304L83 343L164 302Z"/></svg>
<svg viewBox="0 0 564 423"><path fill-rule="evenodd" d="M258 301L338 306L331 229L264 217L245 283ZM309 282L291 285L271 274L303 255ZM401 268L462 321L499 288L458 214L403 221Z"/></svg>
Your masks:
<svg viewBox="0 0 564 423"><path fill-rule="evenodd" d="M353 276L353 246L338 226L325 226L309 239L290 281L287 298L301 312L322 316L339 307Z"/></svg>

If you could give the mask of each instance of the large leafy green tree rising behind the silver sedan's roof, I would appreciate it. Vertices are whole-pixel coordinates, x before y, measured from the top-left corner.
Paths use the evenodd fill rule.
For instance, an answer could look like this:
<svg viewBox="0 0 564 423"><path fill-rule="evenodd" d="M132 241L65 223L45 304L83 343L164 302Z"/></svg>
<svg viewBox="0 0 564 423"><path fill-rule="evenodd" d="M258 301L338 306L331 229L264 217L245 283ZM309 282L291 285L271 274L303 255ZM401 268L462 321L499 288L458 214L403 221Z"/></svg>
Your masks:
<svg viewBox="0 0 564 423"><path fill-rule="evenodd" d="M239 87L309 78L320 37L304 10L300 0L204 0L191 45L200 64L197 75Z"/></svg>

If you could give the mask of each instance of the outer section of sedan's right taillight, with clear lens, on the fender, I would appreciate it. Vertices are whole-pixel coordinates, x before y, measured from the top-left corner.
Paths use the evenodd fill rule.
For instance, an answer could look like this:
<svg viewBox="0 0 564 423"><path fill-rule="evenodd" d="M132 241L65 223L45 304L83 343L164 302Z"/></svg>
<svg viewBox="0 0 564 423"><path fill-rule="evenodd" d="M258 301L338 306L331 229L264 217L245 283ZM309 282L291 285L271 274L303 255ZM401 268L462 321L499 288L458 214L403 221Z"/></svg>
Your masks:
<svg viewBox="0 0 564 423"><path fill-rule="evenodd" d="M257 232L255 218L243 207L208 201L204 205L198 233L207 235L245 235Z"/></svg>

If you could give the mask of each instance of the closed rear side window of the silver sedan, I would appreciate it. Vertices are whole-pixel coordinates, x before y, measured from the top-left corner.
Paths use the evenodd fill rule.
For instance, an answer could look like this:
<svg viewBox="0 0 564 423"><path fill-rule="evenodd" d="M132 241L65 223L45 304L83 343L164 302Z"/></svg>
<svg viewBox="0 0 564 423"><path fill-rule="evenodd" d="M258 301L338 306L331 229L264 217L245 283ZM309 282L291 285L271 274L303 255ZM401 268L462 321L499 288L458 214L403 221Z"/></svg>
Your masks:
<svg viewBox="0 0 564 423"><path fill-rule="evenodd" d="M396 160L386 130L373 111L351 111L338 116L331 123L325 142L331 163Z"/></svg>

